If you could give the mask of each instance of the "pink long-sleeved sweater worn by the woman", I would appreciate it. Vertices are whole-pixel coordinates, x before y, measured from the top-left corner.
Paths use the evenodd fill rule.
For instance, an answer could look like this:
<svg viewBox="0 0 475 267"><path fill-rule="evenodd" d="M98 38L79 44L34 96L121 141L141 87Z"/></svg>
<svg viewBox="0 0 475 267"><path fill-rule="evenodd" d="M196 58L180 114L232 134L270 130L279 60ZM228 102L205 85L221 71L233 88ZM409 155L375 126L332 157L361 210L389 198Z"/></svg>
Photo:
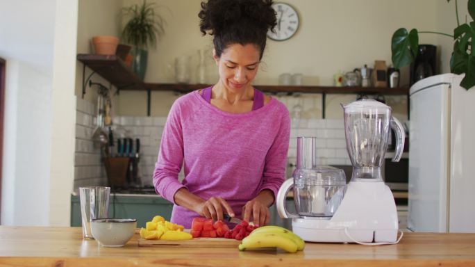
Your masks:
<svg viewBox="0 0 475 267"><path fill-rule="evenodd" d="M233 114L190 92L169 112L153 172L156 192L170 202L183 187L205 200L220 196L240 218L244 204L263 189L277 195L289 136L288 109L274 98L256 111ZM199 214L174 204L172 222L190 228Z"/></svg>

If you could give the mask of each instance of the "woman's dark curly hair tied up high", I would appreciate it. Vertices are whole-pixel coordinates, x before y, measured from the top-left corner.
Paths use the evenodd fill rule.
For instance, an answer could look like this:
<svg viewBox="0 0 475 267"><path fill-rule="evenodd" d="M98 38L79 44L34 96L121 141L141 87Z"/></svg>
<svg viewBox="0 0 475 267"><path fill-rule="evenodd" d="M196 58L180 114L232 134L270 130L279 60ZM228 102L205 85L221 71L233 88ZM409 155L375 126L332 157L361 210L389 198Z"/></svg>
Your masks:
<svg viewBox="0 0 475 267"><path fill-rule="evenodd" d="M262 58L266 33L276 26L272 0L208 0L198 17L201 33L213 35L218 57L229 44L256 44Z"/></svg>

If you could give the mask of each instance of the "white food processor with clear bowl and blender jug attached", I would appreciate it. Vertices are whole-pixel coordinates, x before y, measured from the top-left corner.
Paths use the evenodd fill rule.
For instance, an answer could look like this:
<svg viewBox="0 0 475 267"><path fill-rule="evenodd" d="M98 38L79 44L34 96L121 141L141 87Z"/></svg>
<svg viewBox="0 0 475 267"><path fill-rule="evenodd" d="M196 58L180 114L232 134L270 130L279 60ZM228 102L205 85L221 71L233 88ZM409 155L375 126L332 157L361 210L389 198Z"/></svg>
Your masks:
<svg viewBox="0 0 475 267"><path fill-rule="evenodd" d="M381 177L381 164L390 128L396 152L403 153L403 126L391 108L373 99L342 105L347 151L353 165L349 184L344 172L317 166L316 138L297 138L297 169L278 191L276 206L281 218L292 218L292 231L305 241L381 244L397 243L398 217L390 188ZM285 207L292 189L297 213Z"/></svg>

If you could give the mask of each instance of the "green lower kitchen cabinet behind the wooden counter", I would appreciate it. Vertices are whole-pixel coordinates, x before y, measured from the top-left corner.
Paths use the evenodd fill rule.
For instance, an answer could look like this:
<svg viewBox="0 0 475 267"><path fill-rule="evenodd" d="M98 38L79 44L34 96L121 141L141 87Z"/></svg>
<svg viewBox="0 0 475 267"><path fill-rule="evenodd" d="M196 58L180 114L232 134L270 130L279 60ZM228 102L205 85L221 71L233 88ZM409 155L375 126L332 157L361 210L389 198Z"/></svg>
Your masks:
<svg viewBox="0 0 475 267"><path fill-rule="evenodd" d="M108 211L110 218L134 218L137 219L137 227L145 227L145 223L156 215L169 220L172 216L172 208L172 202L159 195L111 194ZM287 200L287 208L295 212L292 199ZM275 205L270 208L270 213L271 225L292 229L292 220L280 218ZM78 195L71 195L71 226L81 226L81 204Z"/></svg>

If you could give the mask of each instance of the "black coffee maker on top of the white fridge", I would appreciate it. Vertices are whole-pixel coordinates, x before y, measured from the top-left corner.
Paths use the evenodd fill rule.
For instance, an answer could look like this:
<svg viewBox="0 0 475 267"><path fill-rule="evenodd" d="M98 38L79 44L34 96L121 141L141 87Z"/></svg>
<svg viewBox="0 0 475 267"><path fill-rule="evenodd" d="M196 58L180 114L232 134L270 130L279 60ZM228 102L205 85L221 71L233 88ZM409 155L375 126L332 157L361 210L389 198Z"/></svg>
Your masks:
<svg viewBox="0 0 475 267"><path fill-rule="evenodd" d="M437 74L437 47L432 44L419 44L414 63L410 65L410 84Z"/></svg>

